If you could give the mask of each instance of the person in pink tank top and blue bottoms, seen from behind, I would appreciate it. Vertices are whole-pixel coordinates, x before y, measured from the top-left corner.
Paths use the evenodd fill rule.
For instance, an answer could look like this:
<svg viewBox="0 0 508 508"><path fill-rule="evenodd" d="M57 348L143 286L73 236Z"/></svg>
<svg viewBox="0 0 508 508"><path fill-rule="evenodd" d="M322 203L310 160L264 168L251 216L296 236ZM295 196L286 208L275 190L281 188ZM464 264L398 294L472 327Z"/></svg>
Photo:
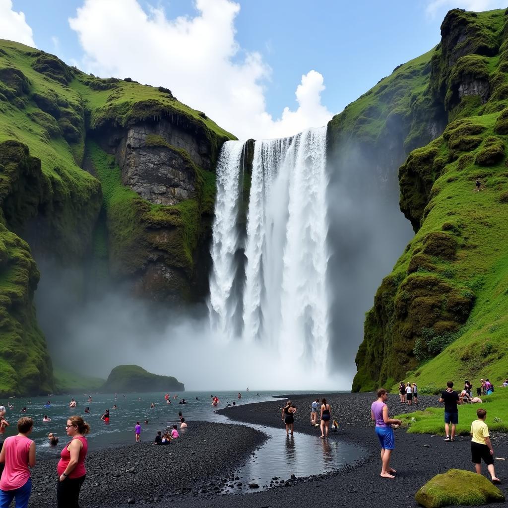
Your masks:
<svg viewBox="0 0 508 508"><path fill-rule="evenodd" d="M5 463L0 480L0 508L16 499L16 508L26 508L31 492L30 467L35 466L35 442L28 438L34 427L31 418L18 420L18 434L4 441L0 463Z"/></svg>

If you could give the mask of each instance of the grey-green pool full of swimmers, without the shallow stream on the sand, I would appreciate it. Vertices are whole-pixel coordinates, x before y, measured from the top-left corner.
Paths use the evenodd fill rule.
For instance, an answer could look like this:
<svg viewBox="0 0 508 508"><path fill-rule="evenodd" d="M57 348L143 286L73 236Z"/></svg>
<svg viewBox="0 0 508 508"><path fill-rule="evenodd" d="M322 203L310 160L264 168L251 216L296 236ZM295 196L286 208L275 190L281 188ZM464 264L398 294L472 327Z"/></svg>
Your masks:
<svg viewBox="0 0 508 508"><path fill-rule="evenodd" d="M215 409L225 407L227 402L236 404L248 404L251 402L264 402L273 400L273 395L280 395L279 392L242 392L242 398L238 399L238 392L184 392L171 394L171 404L166 404L164 393L129 393L118 394L92 394L92 402L87 402L86 395L58 395L50 397L31 397L9 399L8 402L14 405L14 409L7 407L7 401L2 402L7 407L6 418L11 424L7 428L5 437L16 434L16 422L21 416L29 416L34 419L34 430L31 438L37 444L37 456L39 459L58 456L61 444L68 439L65 425L67 419L72 415L79 415L88 422L91 431L88 439L90 450L97 450L108 446L134 442L134 426L140 422L142 426L141 439L152 441L157 430L164 430L168 425L179 423L178 411L192 427L192 421L201 420L206 422L224 422L226 417L215 414ZM283 392L282 392L283 393ZM309 392L313 393L313 392ZM212 407L210 395L216 395L220 402L217 407ZM69 407L72 398L76 399L77 406ZM185 398L187 404L178 402ZM44 407L46 402L51 401L51 407ZM154 403L155 407L150 408ZM113 405L118 406L113 409ZM26 413L19 412L26 406ZM85 407L90 407L90 412L85 414ZM101 421L104 410L110 409L110 422L105 424ZM44 415L51 418L50 422L43 422ZM145 424L148 420L148 424ZM50 447L47 439L49 432L53 432L60 439L58 446Z"/></svg>

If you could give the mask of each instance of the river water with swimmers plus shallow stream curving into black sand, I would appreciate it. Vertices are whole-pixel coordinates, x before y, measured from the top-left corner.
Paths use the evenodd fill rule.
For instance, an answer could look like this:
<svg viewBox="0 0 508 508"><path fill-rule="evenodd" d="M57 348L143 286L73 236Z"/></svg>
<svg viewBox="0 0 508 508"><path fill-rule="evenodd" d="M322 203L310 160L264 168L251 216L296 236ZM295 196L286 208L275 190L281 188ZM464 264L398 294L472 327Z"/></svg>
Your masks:
<svg viewBox="0 0 508 508"><path fill-rule="evenodd" d="M192 432L192 422L197 420L235 423L215 412L217 408L225 407L228 403L235 402L238 405L273 401L273 397L280 393L280 391L277 393L243 391L241 399L238 399L238 392L233 391L172 393L171 404L166 403L163 393L119 393L116 396L92 394L91 402L88 402L87 394L9 399L7 402L14 405L14 408L7 408L6 418L11 426L8 427L5 436L16 434L16 422L19 417L29 416L34 419L34 430L30 437L37 444L37 458L39 460L56 458L59 457L63 444L69 439L65 425L68 417L72 415L82 416L89 423L91 428L88 436L89 449L97 450L134 442L134 426L138 421L142 425L141 439L152 441L157 430L164 430L167 426L179 423L179 411L188 422L187 432ZM315 392L308 393L313 395ZM212 395L216 395L220 400L217 407L211 405ZM72 397L77 402L75 408L69 407ZM179 404L182 398L186 404ZM312 397L309 397L309 406L311 399ZM50 407L45 407L48 401ZM6 407L8 405L6 401L2 404ZM117 408L113 409L115 404ZM21 412L23 407L26 407L26 412ZM89 407L90 412L85 414L86 407ZM109 424L101 421L101 416L107 408L110 409ZM50 422L42 421L45 415L51 419ZM148 423L145 423L146 420ZM298 423L297 418L297 428ZM335 438L324 440L298 432L292 437L287 437L283 429L249 426L261 430L269 436L269 439L244 466L235 471L235 476L239 480L231 482L230 492L245 489L249 491L249 483L257 483L261 488L268 487L275 477L278 479L277 482L282 483L291 478L291 475L308 477L323 474L351 464L365 455L361 447L354 447ZM49 446L47 439L49 432L60 438L56 447ZM238 482L243 484L240 489L236 485Z"/></svg>

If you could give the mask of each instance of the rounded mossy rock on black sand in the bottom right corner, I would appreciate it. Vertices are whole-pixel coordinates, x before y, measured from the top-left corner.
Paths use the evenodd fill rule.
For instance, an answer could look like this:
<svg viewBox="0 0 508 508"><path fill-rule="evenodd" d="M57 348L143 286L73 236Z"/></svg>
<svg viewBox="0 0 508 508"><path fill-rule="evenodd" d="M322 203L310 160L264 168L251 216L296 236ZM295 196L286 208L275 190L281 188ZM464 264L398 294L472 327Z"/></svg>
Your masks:
<svg viewBox="0 0 508 508"><path fill-rule="evenodd" d="M462 469L450 469L436 474L415 495L425 508L441 506L479 506L489 502L503 502L503 493L482 474Z"/></svg>

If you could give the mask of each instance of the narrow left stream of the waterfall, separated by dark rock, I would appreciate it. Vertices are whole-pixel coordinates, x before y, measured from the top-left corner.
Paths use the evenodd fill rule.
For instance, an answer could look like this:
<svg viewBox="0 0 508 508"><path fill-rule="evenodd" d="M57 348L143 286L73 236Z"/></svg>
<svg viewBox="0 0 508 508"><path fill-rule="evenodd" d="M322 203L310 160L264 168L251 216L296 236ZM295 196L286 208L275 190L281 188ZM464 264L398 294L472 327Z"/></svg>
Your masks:
<svg viewBox="0 0 508 508"><path fill-rule="evenodd" d="M217 162L217 196L213 220L210 276L210 322L221 334L233 330L232 319L237 302L231 290L235 279L235 253L238 250L238 204L240 196L240 161L242 141L224 143Z"/></svg>

